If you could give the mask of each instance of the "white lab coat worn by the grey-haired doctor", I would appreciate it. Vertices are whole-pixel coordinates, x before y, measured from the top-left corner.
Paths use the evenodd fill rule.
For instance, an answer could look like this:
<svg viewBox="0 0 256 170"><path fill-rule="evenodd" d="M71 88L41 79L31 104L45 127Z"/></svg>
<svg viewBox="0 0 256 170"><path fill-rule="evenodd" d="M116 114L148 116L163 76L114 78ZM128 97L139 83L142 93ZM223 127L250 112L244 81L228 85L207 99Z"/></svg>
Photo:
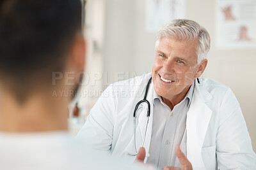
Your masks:
<svg viewBox="0 0 256 170"><path fill-rule="evenodd" d="M151 74L109 85L93 106L78 138L86 145L111 155L124 156L131 162L134 153L133 112L143 99ZM195 81L195 91L187 113L187 157L193 169L256 169L256 156L239 103L233 92L207 78ZM151 115L145 138L148 155L153 122L151 83L147 100ZM145 133L147 110L138 111L137 150ZM161 139L160 139L161 140ZM145 160L146 161L146 160ZM166 165L168 166L168 165Z"/></svg>

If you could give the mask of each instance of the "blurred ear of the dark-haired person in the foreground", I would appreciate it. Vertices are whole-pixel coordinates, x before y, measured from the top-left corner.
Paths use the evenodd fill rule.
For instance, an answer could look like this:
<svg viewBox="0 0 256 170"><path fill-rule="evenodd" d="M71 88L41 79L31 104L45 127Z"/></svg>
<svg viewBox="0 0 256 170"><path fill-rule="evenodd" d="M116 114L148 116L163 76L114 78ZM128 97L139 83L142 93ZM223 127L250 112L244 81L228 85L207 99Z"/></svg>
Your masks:
<svg viewBox="0 0 256 170"><path fill-rule="evenodd" d="M86 42L84 36L79 34L74 39L72 49L70 51L71 62L74 64L76 71L84 71L86 54Z"/></svg>

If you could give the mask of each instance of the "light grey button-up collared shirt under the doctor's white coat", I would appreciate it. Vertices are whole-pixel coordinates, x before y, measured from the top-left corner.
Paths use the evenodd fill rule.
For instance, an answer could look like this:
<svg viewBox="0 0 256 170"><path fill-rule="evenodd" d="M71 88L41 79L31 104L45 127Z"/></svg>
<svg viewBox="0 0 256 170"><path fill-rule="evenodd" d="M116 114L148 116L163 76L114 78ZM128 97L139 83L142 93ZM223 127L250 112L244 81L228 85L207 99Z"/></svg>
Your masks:
<svg viewBox="0 0 256 170"><path fill-rule="evenodd" d="M152 125L152 135L147 159L148 164L153 164L157 169L164 166L180 167L179 159L175 154L175 146L180 145L180 149L186 155L186 115L193 97L195 81L189 88L186 97L171 110L161 96L154 91L153 104L154 115Z"/></svg>

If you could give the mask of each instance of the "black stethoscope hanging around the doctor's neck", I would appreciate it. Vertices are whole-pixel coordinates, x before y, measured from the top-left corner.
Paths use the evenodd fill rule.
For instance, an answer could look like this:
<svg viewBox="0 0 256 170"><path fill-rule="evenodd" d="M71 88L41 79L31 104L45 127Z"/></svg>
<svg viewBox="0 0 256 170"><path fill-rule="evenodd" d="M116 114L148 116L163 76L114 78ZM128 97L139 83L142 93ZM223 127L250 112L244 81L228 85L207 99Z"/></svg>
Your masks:
<svg viewBox="0 0 256 170"><path fill-rule="evenodd" d="M147 94L148 94L148 89L149 89L151 80L152 80L152 77L148 80L146 91L145 91L145 94L144 94L144 98L136 104L134 112L133 112L133 139L134 139L135 154L128 153L128 155L130 155L130 156L136 156L138 154L138 151L137 151L137 148L136 148L136 113L140 109L139 106L140 106L141 103L146 103L147 104L147 124L146 124L145 134L144 134L144 138L143 138L143 142L142 142L141 147L143 147L144 143L145 143L145 138L146 138L147 129L148 129L148 122L149 122L149 117L150 117L150 103L147 100Z"/></svg>

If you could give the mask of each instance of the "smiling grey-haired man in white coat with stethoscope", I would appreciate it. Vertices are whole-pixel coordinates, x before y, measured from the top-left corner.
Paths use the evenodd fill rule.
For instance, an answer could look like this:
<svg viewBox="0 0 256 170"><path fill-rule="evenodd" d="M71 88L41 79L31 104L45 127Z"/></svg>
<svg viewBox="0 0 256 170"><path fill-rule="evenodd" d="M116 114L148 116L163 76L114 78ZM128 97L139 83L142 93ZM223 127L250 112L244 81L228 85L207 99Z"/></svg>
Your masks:
<svg viewBox="0 0 256 170"><path fill-rule="evenodd" d="M232 90L200 77L209 49L204 27L193 20L170 22L157 32L152 73L109 85L77 138L131 162L143 146L145 162L157 169L184 169L184 162L193 169L256 169L250 135ZM145 96L148 103L138 106L134 124L134 108ZM186 156L184 162L177 158L177 145Z"/></svg>

